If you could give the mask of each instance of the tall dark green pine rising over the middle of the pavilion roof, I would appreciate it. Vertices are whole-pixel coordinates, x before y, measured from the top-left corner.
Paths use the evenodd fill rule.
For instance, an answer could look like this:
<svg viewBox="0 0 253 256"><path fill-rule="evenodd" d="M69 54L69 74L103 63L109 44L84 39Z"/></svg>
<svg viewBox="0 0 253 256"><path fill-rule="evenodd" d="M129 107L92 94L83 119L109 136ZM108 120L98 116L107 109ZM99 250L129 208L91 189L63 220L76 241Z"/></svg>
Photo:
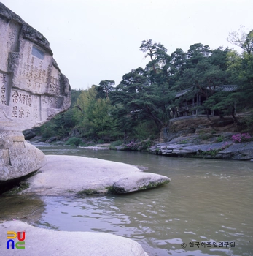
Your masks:
<svg viewBox="0 0 253 256"><path fill-rule="evenodd" d="M220 48L213 53L207 45L195 44L190 46L188 58L190 58L187 60L188 68L184 69L182 77L176 83L176 88L178 91L188 89L182 100L192 99L195 94L199 94L207 101L220 86L227 84L225 67L219 65L221 60L225 61L225 53L223 54ZM209 118L210 104L211 101L203 105L206 108L207 118Z"/></svg>

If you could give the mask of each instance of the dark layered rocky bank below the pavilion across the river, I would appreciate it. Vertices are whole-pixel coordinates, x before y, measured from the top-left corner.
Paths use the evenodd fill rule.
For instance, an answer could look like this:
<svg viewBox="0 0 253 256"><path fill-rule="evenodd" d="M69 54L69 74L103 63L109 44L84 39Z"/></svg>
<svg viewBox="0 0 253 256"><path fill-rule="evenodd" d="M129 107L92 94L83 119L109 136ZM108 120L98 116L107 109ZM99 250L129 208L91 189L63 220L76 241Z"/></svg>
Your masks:
<svg viewBox="0 0 253 256"><path fill-rule="evenodd" d="M245 121L240 114L237 118ZM184 116L169 121L160 134L160 141L149 148L152 154L168 157L198 157L212 159L250 160L253 158L253 142L237 143L232 140L238 133L238 125L230 116ZM164 141L167 141L164 143Z"/></svg>

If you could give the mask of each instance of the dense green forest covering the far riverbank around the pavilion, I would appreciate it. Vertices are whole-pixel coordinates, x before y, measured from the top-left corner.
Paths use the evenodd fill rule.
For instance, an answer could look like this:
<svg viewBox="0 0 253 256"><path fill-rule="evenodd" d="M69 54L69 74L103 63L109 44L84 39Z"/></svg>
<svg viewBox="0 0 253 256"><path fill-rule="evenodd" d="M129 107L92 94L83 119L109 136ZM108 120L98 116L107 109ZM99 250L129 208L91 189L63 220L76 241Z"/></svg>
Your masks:
<svg viewBox="0 0 253 256"><path fill-rule="evenodd" d="M171 55L152 39L139 50L149 59L146 67L137 67L122 76L120 84L102 80L87 90L71 91L71 108L39 128L42 138L68 140L71 145L90 142L108 143L154 139L175 117L182 102L196 94L204 101L192 105L199 114L217 113L220 118L253 108L253 30L230 33L228 39L241 48L211 50L196 43L189 50L177 48ZM224 91L221 86L236 85ZM182 97L176 97L182 93ZM252 127L253 116L244 127Z"/></svg>

